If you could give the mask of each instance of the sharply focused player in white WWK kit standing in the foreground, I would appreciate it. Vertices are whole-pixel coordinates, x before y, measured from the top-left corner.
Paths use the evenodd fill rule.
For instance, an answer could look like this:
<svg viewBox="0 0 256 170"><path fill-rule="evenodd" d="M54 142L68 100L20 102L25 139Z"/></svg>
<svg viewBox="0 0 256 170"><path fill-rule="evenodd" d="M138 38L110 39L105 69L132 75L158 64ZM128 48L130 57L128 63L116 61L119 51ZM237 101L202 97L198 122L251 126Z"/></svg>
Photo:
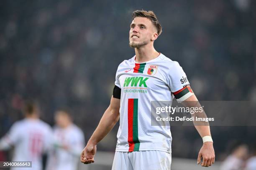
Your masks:
<svg viewBox="0 0 256 170"><path fill-rule="evenodd" d="M152 11L132 14L129 45L135 56L117 69L110 106L81 153L81 162L94 162L96 145L120 118L112 170L169 170L172 136L169 126L151 126L151 101L197 101L178 62L154 49L161 25ZM215 161L209 126L195 125L203 138L197 164Z"/></svg>

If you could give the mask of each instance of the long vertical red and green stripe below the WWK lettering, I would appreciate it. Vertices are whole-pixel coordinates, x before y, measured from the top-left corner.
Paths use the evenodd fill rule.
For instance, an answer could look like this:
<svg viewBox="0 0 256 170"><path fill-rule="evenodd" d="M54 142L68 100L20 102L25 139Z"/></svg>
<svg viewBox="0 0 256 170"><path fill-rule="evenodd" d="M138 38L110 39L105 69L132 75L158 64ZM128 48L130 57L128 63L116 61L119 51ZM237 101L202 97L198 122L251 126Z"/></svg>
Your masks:
<svg viewBox="0 0 256 170"><path fill-rule="evenodd" d="M139 151L138 140L138 99L128 99L128 143L129 152Z"/></svg>

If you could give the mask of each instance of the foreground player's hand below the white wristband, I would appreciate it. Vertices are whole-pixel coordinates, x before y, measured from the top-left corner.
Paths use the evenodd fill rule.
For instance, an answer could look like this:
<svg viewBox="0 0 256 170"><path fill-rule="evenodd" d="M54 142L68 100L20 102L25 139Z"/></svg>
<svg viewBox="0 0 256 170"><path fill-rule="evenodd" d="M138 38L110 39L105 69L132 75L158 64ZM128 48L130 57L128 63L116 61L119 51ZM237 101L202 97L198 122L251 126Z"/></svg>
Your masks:
<svg viewBox="0 0 256 170"><path fill-rule="evenodd" d="M201 158L203 159L201 163ZM209 167L215 162L215 153L212 142L205 142L199 151L197 164L201 163L201 166Z"/></svg>

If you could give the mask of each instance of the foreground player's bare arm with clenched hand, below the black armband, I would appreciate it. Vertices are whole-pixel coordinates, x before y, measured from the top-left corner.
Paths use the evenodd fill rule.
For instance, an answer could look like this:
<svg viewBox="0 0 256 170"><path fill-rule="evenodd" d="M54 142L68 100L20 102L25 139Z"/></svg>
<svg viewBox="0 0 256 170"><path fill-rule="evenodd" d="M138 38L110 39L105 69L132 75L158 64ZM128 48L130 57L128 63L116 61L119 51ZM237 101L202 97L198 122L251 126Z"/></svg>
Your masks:
<svg viewBox="0 0 256 170"><path fill-rule="evenodd" d="M96 145L113 129L118 122L120 113L120 99L111 97L110 105L103 114L99 125L92 134L86 147L81 153L81 162L85 164L94 163L94 155L96 153Z"/></svg>

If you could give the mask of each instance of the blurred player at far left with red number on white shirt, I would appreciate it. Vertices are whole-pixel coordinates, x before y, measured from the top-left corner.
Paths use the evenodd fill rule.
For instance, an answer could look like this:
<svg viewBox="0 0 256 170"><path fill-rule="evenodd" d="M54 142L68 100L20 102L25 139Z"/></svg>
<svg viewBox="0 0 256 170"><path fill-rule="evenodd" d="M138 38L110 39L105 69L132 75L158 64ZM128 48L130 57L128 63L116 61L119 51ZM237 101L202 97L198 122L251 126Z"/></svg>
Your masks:
<svg viewBox="0 0 256 170"><path fill-rule="evenodd" d="M14 146L13 161L32 161L32 168L29 169L41 170L42 155L49 148L52 138L51 127L39 119L39 108L35 103L27 102L23 112L25 118L15 122L0 140L0 150L8 150Z"/></svg>

